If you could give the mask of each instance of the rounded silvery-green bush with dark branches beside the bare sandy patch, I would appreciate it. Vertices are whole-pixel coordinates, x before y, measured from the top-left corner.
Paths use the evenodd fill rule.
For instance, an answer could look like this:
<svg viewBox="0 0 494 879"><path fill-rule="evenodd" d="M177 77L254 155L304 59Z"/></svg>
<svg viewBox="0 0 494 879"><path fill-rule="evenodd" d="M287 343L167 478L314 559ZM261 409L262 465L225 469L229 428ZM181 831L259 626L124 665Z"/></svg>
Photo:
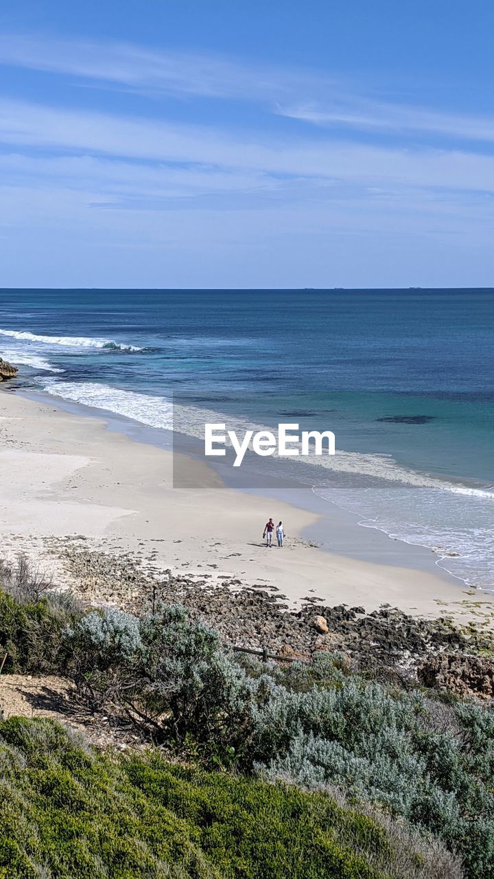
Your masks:
<svg viewBox="0 0 494 879"><path fill-rule="evenodd" d="M225 759L249 730L253 680L218 633L170 605L136 619L87 614L68 630L69 669L95 707L117 703L158 742L209 744Z"/></svg>

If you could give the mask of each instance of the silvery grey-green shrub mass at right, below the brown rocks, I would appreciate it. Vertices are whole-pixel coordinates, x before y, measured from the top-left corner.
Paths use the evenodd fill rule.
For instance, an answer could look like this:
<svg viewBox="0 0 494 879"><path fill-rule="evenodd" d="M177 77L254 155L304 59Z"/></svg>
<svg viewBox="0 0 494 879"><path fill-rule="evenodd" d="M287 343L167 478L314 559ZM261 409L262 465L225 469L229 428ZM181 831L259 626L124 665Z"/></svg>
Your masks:
<svg viewBox="0 0 494 879"><path fill-rule="evenodd" d="M358 679L307 693L273 684L253 712L257 769L310 789L337 784L440 836L481 879L494 875L494 712L464 703L451 712L456 734L427 728L420 694Z"/></svg>

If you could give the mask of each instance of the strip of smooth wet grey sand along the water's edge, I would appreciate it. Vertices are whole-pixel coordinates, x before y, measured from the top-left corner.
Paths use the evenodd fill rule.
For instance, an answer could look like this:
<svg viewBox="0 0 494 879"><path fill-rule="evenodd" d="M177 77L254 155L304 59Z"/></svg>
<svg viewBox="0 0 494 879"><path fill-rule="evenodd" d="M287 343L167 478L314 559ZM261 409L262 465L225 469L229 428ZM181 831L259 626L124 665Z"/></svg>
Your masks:
<svg viewBox="0 0 494 879"><path fill-rule="evenodd" d="M194 432L172 432L170 428L152 426L140 420L139 415L124 414L123 411L105 410L101 403L91 404L76 402L66 396L56 396L48 389L25 389L19 383L19 391L23 395L30 396L34 400L44 400L48 405L55 404L62 410L74 414L91 416L92 418L105 418L107 428L110 431L124 432L137 442L149 443L160 448L175 448L180 452L193 457L194 460L204 463L202 446L198 439L199 434ZM166 419L165 419L166 420ZM344 453L346 454L346 453ZM353 454L353 453L351 453ZM325 469L308 467L302 463L301 468L287 469L280 462L271 473L259 478L257 468L252 461L244 461L242 475L234 472L231 467L222 467L216 459L206 462L208 468L214 469L220 476L222 483L232 489L239 489L253 495L274 498L276 501L287 501L298 508L317 514L318 524L309 527L302 534L304 539L316 541L317 544L336 555L353 558L360 561L392 564L397 567L406 567L413 570L424 570L434 573L440 578L446 578L449 583L460 585L466 589L480 589L482 592L494 593L494 584L491 579L486 582L485 571L481 570L476 577L473 570L469 570L469 551L466 555L463 548L457 547L455 541L448 541L447 534L436 534L433 538L423 541L415 541L413 536L403 534L400 529L399 511L396 527L384 527L374 522L373 512L366 515L362 509L347 508L345 497L338 499L338 480L336 484L337 499L331 498L331 485L328 484L322 495L317 490L317 481L325 478ZM407 465L408 466L408 465ZM311 472L313 471L313 472ZM330 473L331 473L330 469ZM338 469L336 471L338 473ZM410 471L411 472L411 471ZM330 473L326 476L330 476ZM424 473L425 480L436 480L438 483L446 481L458 483L461 490L478 490L473 480L466 478L460 480L454 476L442 473L433 475ZM470 484L471 483L471 484ZM266 491L266 484L269 489ZM390 483L393 484L393 483ZM365 487L363 489L365 491ZM439 499L442 503L442 498ZM359 505L358 505L359 506ZM375 511L374 511L375 512ZM391 517L392 518L392 517ZM449 527L449 526L448 526ZM402 533L400 533L402 530ZM412 529L413 530L413 529ZM426 534L426 533L425 533ZM481 551L482 554L482 551ZM482 556L483 557L483 556Z"/></svg>

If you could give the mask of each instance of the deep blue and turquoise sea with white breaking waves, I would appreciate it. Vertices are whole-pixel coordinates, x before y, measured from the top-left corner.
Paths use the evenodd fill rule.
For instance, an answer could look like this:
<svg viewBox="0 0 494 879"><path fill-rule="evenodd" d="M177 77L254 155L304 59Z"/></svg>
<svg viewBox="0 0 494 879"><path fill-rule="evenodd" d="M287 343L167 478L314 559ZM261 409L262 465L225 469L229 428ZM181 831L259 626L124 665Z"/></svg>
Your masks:
<svg viewBox="0 0 494 879"><path fill-rule="evenodd" d="M157 429L172 396L185 433L202 410L330 429L321 498L494 585L494 290L4 290L0 356Z"/></svg>

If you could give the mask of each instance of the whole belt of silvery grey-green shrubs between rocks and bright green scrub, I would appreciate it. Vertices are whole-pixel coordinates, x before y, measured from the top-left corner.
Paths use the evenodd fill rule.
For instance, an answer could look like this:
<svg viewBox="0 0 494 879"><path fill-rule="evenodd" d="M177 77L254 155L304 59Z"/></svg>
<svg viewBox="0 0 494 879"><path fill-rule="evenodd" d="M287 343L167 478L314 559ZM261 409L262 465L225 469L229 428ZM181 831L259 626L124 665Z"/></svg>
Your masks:
<svg viewBox="0 0 494 879"><path fill-rule="evenodd" d="M32 655L22 614L40 616L46 628L55 609L47 599L2 600L22 622L20 634L9 625L12 655L17 649L25 668ZM239 663L214 629L178 605L142 619L115 610L70 625L62 619L54 656L58 650L56 661L63 657L93 707L125 715L201 766L235 766L311 791L338 788L360 808L440 838L461 853L469 879L494 875L492 708L375 683L337 655L310 666Z"/></svg>

